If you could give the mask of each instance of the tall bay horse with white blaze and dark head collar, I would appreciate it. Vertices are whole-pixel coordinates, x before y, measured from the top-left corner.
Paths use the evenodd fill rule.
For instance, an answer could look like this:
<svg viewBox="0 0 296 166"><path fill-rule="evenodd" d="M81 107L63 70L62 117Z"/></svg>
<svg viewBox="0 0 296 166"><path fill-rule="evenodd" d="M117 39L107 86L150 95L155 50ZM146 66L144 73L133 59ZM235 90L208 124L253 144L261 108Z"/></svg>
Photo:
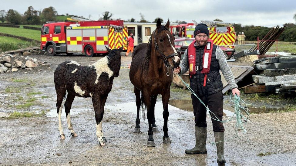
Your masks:
<svg viewBox="0 0 296 166"><path fill-rule="evenodd" d="M156 30L153 31L149 42L138 45L133 51L130 65L130 81L134 85L136 95L137 118L134 132L140 132L140 106L145 118L147 109L148 141L147 146L154 147L153 132L158 132L155 125L154 107L158 95L162 95L163 103L163 143L170 143L167 120L169 117L168 103L170 99L170 85L173 70L180 64L175 49L174 37L169 31L170 20L165 26L157 20ZM140 95L141 94L141 95Z"/></svg>

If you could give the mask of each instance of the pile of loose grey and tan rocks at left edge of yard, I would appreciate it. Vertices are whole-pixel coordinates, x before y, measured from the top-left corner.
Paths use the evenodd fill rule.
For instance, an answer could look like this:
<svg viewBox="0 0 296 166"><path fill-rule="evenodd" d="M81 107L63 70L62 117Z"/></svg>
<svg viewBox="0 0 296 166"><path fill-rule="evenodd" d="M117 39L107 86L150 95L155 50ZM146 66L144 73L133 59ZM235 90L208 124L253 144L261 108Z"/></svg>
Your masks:
<svg viewBox="0 0 296 166"><path fill-rule="evenodd" d="M24 57L22 55L0 54L0 73L15 72L18 70L26 69L33 70L32 68L46 66L49 67L47 61L40 62L36 58Z"/></svg>

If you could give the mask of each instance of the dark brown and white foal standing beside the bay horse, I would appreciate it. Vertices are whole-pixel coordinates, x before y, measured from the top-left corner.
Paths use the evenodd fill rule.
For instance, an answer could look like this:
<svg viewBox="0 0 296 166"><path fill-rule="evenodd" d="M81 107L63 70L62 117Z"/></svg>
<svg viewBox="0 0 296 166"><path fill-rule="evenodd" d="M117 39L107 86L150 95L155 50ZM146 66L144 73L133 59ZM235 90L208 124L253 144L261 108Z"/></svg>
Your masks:
<svg viewBox="0 0 296 166"><path fill-rule="evenodd" d="M107 47L106 47L107 48ZM73 129L70 109L75 96L91 97L96 118L96 135L101 146L107 141L102 132L102 119L104 106L108 93L111 91L114 77L119 76L120 52L122 48L108 50L108 55L96 61L92 65L82 66L75 61L65 61L59 64L54 73L57 103L56 109L59 115L60 138L65 139L62 128L62 102L65 101L65 112L67 117L68 129L73 137L77 137Z"/></svg>

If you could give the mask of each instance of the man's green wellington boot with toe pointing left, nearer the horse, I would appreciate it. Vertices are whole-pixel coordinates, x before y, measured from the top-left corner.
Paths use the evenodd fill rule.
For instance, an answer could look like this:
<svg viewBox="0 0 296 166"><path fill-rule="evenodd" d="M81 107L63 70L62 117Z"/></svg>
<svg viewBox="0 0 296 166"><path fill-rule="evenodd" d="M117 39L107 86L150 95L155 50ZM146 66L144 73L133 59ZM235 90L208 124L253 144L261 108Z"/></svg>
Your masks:
<svg viewBox="0 0 296 166"><path fill-rule="evenodd" d="M186 149L185 153L193 154L207 154L206 148L207 128L195 126L195 146L192 149Z"/></svg>

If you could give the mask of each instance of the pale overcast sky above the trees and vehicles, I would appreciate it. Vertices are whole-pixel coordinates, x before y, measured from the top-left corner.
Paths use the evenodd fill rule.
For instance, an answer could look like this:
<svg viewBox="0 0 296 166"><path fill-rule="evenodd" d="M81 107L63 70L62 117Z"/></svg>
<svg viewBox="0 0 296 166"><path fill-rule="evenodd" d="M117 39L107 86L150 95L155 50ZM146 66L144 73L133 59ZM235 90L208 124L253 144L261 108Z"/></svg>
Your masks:
<svg viewBox="0 0 296 166"><path fill-rule="evenodd" d="M141 12L145 19L156 17L167 21L214 20L242 25L272 27L284 23L295 23L295 0L0 0L0 10L14 9L24 14L29 6L42 10L53 6L59 15L68 13L98 20L104 11L110 11L112 18L124 20L135 18L140 21Z"/></svg>

